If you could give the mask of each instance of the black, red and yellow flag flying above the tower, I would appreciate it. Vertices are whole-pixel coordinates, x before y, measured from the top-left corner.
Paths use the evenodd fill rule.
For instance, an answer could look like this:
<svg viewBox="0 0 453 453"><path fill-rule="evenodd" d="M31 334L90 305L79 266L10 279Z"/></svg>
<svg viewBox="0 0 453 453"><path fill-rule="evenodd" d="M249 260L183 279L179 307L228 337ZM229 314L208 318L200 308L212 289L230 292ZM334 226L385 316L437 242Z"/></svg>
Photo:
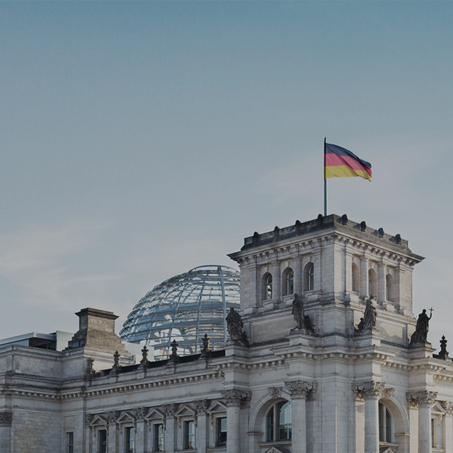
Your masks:
<svg viewBox="0 0 453 453"><path fill-rule="evenodd" d="M326 143L324 148L324 176L325 178L350 178L360 176L371 180L371 164L362 161L348 149L336 144Z"/></svg>

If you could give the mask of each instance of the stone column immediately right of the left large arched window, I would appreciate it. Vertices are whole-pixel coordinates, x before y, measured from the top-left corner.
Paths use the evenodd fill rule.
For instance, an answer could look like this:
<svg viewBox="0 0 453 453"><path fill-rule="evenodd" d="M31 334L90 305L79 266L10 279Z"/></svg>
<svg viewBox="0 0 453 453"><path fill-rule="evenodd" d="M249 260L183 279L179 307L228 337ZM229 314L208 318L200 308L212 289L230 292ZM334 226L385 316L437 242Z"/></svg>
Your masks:
<svg viewBox="0 0 453 453"><path fill-rule="evenodd" d="M316 391L315 382L285 382L292 400L292 453L306 453L306 397Z"/></svg>

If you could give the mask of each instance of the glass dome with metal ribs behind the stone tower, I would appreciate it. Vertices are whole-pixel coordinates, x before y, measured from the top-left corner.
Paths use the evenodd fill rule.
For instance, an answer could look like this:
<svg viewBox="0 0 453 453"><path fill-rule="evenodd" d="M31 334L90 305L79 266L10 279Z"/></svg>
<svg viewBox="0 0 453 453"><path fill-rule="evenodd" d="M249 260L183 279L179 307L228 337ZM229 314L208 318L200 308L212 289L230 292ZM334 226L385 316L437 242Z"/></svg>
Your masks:
<svg viewBox="0 0 453 453"><path fill-rule="evenodd" d="M178 342L178 355L200 352L202 337L210 348L223 348L226 311L239 310L239 272L227 266L205 265L175 275L152 289L127 316L120 337L154 348L154 357L170 354Z"/></svg>

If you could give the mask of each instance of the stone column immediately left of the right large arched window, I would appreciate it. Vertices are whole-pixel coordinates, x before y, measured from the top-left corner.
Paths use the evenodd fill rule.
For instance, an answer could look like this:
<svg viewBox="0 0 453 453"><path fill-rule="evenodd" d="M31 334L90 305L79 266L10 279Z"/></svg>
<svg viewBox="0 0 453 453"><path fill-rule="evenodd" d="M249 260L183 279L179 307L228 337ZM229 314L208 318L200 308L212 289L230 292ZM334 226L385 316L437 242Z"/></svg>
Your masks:
<svg viewBox="0 0 453 453"><path fill-rule="evenodd" d="M379 453L379 398L384 391L383 382L366 381L352 386L360 398L365 398L365 449L366 453Z"/></svg>

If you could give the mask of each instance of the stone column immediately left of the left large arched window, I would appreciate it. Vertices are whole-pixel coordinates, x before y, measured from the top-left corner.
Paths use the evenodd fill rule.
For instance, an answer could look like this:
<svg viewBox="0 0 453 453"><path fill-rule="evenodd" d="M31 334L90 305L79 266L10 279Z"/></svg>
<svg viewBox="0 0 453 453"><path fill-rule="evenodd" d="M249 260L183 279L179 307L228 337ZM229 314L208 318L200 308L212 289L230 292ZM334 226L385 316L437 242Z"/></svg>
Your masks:
<svg viewBox="0 0 453 453"><path fill-rule="evenodd" d="M250 400L251 391L222 391L226 401L226 453L241 453L241 404Z"/></svg>

